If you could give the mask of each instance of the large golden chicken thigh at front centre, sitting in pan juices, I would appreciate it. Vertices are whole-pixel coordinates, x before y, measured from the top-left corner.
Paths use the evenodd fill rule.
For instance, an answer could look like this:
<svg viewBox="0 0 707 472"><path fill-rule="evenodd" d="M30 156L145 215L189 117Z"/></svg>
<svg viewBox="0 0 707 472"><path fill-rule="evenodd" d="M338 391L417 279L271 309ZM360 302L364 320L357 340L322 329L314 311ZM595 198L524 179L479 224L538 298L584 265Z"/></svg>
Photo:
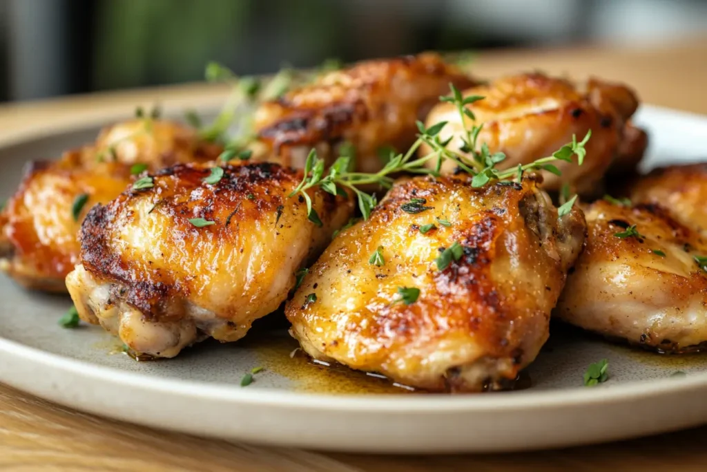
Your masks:
<svg viewBox="0 0 707 472"><path fill-rule="evenodd" d="M405 212L415 198L428 209ZM421 234L430 223L437 228ZM461 176L402 180L310 268L286 306L291 334L315 359L409 386L494 388L547 340L584 236L582 213L558 219L531 178L484 188ZM455 241L463 254L438 270L440 251ZM380 267L369 262L379 246ZM404 304L399 287L416 287L419 298Z"/></svg>

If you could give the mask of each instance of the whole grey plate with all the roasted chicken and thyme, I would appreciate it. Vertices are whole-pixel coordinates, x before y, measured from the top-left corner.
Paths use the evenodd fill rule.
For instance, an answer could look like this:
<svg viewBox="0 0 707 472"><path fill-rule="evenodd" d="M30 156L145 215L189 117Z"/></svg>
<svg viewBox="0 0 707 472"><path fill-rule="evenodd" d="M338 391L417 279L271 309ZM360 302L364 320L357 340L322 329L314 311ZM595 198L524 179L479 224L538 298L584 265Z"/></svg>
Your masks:
<svg viewBox="0 0 707 472"><path fill-rule="evenodd" d="M432 53L207 75L233 93L206 125L137 110L0 147L0 381L342 451L707 422L707 117Z"/></svg>

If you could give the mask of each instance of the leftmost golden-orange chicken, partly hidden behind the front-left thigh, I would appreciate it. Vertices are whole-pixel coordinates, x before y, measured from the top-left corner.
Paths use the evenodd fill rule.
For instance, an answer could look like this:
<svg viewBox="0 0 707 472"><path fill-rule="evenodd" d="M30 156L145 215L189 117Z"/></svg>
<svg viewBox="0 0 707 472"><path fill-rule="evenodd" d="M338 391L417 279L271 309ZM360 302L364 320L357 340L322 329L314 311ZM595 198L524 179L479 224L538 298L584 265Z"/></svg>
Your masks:
<svg viewBox="0 0 707 472"><path fill-rule="evenodd" d="M34 163L0 213L0 270L25 287L66 292L64 279L78 262L83 217L125 190L131 164L156 170L216 159L220 151L182 125L129 120L104 129L94 146L69 151L59 161Z"/></svg>

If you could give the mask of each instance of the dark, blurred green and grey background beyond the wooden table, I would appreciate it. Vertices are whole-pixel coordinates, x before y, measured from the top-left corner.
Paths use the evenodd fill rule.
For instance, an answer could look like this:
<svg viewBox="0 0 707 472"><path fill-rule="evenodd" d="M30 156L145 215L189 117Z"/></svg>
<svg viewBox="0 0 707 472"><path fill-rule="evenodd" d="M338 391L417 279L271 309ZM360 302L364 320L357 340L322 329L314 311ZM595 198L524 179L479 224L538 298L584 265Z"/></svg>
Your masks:
<svg viewBox="0 0 707 472"><path fill-rule="evenodd" d="M0 0L0 100L198 81L208 60L261 74L704 30L703 0Z"/></svg>

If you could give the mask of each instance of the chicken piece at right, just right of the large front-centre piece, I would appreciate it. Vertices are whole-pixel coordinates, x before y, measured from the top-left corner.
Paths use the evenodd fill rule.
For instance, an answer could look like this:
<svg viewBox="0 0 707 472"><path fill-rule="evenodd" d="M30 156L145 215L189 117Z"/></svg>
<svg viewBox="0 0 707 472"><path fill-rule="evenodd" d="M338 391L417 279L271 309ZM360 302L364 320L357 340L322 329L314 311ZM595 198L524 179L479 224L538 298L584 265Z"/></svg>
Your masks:
<svg viewBox="0 0 707 472"><path fill-rule="evenodd" d="M660 352L703 347L707 273L694 256L707 255L707 244L699 234L658 205L600 200L585 215L587 245L554 316ZM641 236L615 236L634 224Z"/></svg>

